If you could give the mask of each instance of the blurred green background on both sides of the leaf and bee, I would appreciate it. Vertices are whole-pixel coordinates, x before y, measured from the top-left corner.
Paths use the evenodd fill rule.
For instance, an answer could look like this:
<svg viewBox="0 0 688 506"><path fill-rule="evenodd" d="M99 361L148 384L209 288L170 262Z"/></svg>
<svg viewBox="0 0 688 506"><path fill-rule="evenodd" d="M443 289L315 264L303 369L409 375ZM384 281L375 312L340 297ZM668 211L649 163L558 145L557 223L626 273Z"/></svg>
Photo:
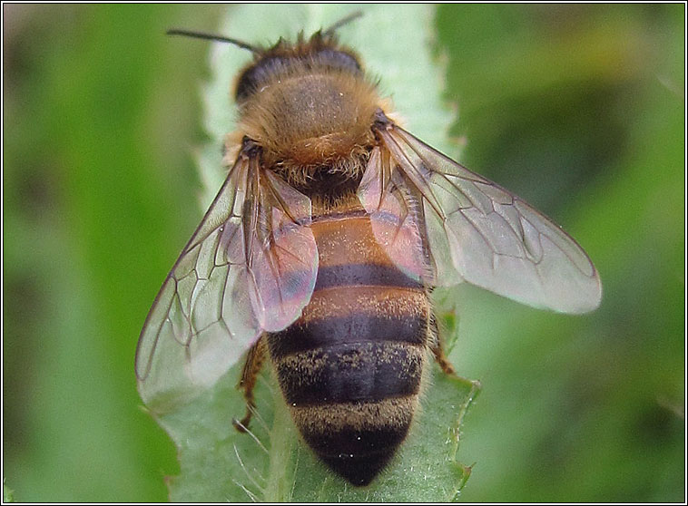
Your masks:
<svg viewBox="0 0 688 506"><path fill-rule="evenodd" d="M175 452L133 354L201 219L208 47L162 33L224 7L3 8L4 478L18 501L163 501ZM684 9L438 7L461 161L604 286L586 316L458 290L452 360L483 383L465 501L684 501Z"/></svg>

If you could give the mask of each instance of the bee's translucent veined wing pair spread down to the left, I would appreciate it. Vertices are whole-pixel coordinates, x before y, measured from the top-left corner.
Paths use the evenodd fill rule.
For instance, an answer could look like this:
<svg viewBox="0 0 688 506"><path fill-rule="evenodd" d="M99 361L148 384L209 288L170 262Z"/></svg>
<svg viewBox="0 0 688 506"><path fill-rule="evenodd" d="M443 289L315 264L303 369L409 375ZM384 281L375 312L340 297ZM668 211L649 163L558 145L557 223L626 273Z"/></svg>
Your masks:
<svg viewBox="0 0 688 506"><path fill-rule="evenodd" d="M149 407L192 398L300 316L318 270L309 225L310 199L257 160L236 162L143 325L136 376Z"/></svg>

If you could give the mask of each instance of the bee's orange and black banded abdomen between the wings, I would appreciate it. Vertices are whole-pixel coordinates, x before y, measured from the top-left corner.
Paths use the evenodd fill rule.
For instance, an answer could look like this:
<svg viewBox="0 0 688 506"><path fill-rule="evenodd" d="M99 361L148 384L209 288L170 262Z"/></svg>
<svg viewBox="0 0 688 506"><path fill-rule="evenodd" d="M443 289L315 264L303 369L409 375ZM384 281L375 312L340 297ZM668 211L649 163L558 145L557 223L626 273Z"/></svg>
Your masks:
<svg viewBox="0 0 688 506"><path fill-rule="evenodd" d="M312 229L315 290L292 326L268 336L270 357L305 441L365 485L406 437L418 405L428 296L378 246L362 210L321 216Z"/></svg>

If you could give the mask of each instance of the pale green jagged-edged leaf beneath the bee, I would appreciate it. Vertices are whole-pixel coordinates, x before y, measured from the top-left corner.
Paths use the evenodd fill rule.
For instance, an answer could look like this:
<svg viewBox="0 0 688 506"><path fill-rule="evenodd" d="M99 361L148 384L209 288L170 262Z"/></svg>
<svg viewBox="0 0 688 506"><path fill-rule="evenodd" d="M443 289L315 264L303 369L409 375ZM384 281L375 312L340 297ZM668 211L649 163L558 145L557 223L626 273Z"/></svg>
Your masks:
<svg viewBox="0 0 688 506"><path fill-rule="evenodd" d="M250 44L310 34L355 11L350 5L250 5L229 10L222 34ZM443 71L432 63L428 42L433 10L423 5L366 5L362 18L338 30L341 42L361 54L383 94L393 93L409 129L447 151L453 114L441 101ZM199 154L205 209L220 188L225 134L234 129L236 112L228 103L230 83L251 54L231 44L211 49L211 82L204 86L205 127L211 142ZM453 321L448 323L450 334ZM157 359L157 357L156 357ZM234 366L210 390L188 401L168 399L157 420L179 451L180 475L168 483L172 501L451 501L466 482L470 468L457 462L460 426L477 383L450 377L428 366L421 408L407 441L388 468L365 488L354 488L321 464L301 442L266 367L255 390L257 416L251 433L239 433L232 418L245 403L235 385L241 365ZM170 402L171 401L171 402ZM172 407L170 407L172 406Z"/></svg>

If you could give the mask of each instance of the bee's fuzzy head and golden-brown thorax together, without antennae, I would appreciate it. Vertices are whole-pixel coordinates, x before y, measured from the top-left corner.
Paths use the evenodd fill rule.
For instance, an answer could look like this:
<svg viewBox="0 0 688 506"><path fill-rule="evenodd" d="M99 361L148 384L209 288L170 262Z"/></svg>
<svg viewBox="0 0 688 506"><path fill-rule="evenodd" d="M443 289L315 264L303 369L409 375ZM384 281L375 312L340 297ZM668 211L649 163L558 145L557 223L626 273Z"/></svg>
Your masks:
<svg viewBox="0 0 688 506"><path fill-rule="evenodd" d="M239 130L260 145L267 167L297 185L319 170L360 175L380 99L355 55L314 36L293 46L280 42L247 74L251 90L240 83L237 97Z"/></svg>

